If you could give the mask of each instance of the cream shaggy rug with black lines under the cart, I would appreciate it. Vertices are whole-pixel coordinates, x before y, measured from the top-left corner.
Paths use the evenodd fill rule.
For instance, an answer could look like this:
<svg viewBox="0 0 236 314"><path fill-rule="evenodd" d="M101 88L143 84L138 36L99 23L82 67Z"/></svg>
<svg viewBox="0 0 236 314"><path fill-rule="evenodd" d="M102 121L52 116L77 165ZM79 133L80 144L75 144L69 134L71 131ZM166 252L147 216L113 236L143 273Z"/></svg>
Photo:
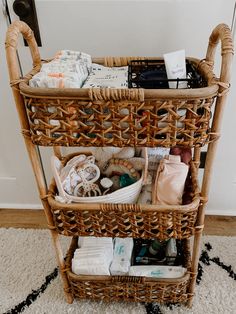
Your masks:
<svg viewBox="0 0 236 314"><path fill-rule="evenodd" d="M92 301L70 305L49 231L0 229L0 314L235 314L236 237L203 237L198 279L192 309Z"/></svg>

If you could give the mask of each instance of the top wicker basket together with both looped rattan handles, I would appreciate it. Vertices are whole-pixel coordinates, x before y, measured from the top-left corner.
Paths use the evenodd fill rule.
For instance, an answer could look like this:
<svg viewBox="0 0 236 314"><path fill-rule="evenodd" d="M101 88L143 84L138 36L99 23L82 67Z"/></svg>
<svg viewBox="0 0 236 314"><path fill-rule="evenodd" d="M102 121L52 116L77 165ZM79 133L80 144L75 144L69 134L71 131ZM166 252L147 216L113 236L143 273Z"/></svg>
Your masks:
<svg viewBox="0 0 236 314"><path fill-rule="evenodd" d="M28 41L33 58L33 70L23 78L20 78L16 57L20 32ZM219 39L223 70L217 79L213 63ZM17 103L21 103L20 115L24 115L23 133L34 144L194 147L218 137L211 125L211 110L216 96L223 96L229 88L227 68L233 54L230 30L225 24L212 32L206 59L188 58L206 81L206 87L194 89L32 88L28 85L29 79L40 70L42 61L33 33L26 24L17 21L9 27L6 50L11 85L23 95L19 99L18 93L14 93ZM107 57L93 61L105 66L124 66L133 59L137 58ZM122 108L128 113L124 115ZM52 120L57 120L57 124L53 125Z"/></svg>

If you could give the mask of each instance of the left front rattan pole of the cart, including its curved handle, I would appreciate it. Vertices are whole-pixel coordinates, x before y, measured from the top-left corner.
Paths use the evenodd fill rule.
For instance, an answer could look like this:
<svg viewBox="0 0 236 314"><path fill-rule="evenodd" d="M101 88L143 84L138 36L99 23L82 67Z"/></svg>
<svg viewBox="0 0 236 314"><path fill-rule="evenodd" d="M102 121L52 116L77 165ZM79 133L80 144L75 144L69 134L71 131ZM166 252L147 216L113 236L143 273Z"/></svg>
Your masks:
<svg viewBox="0 0 236 314"><path fill-rule="evenodd" d="M56 251L57 262L59 264L61 278L64 285L66 300L68 303L72 303L73 296L70 292L69 281L65 273L65 262L63 258L62 248L59 242L59 235L55 230L53 230L53 217L50 211L50 206L47 202L47 187L44 181L42 167L41 167L38 152L36 150L36 146L32 143L31 138L30 138L30 126L29 126L28 117L25 111L24 99L19 90L18 80L20 78L20 73L19 73L19 67L18 67L16 48L17 48L17 42L18 42L18 37L20 33L28 42L31 55L33 58L33 65L35 68L37 67L40 68L41 58L40 58L39 50L38 50L32 30L26 24L20 21L16 21L14 24L15 24L14 31L12 32L10 30L8 31L7 40L6 40L6 51L7 51L6 57L7 57L7 63L8 63L8 68L9 68L9 76L10 76L11 82L14 82L14 85L12 87L12 92L14 95L18 115L20 118L20 124L21 124L22 133L25 139L25 145L26 145L27 152L31 161L34 175L35 175L35 179L38 186L40 198L43 204L47 223L51 231L53 245ZM59 150L54 150L54 152L55 153L57 152L58 154L60 153Z"/></svg>

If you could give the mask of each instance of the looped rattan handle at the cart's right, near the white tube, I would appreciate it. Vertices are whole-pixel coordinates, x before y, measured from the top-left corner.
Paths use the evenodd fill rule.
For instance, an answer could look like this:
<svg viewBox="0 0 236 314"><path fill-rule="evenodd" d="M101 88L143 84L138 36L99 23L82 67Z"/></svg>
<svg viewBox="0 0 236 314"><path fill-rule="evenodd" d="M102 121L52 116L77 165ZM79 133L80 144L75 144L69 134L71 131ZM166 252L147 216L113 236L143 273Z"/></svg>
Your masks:
<svg viewBox="0 0 236 314"><path fill-rule="evenodd" d="M234 46L231 31L226 24L219 24L218 26L216 26L209 38L209 44L206 53L206 62L208 62L208 64L210 64L212 67L214 65L216 47L219 41L221 41L222 56L220 81L224 83L229 83L230 66L232 56L234 54Z"/></svg>

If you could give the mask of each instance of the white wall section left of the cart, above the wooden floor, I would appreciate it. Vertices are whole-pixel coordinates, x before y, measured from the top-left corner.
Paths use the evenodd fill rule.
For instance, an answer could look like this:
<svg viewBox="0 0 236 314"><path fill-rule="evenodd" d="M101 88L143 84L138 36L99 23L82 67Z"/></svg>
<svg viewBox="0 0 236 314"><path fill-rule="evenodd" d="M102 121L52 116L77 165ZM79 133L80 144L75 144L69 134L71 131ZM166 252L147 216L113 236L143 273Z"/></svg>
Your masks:
<svg viewBox="0 0 236 314"><path fill-rule="evenodd" d="M6 29L0 10L0 207L38 208L38 193L9 88L4 50Z"/></svg>

